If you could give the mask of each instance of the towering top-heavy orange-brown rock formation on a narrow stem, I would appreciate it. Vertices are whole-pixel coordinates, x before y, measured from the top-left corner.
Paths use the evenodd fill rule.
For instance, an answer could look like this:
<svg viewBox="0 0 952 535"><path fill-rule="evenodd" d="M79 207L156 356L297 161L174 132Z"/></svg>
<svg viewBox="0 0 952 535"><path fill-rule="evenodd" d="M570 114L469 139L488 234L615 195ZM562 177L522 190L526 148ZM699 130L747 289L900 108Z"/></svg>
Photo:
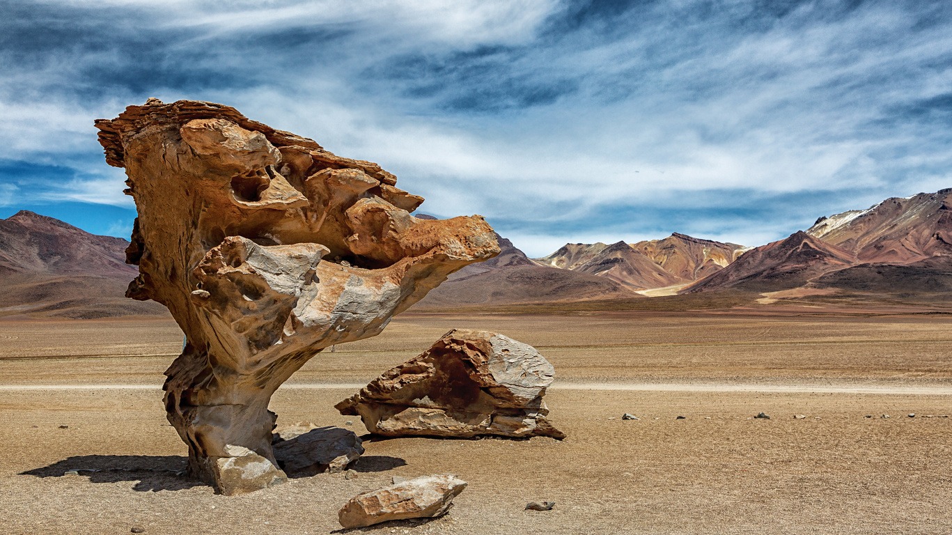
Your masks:
<svg viewBox="0 0 952 535"><path fill-rule="evenodd" d="M482 217L417 219L423 199L376 164L227 106L149 99L96 127L139 212L126 295L169 307L188 340L166 371L169 422L189 474L226 494L285 478L268 401L295 370L499 253Z"/></svg>

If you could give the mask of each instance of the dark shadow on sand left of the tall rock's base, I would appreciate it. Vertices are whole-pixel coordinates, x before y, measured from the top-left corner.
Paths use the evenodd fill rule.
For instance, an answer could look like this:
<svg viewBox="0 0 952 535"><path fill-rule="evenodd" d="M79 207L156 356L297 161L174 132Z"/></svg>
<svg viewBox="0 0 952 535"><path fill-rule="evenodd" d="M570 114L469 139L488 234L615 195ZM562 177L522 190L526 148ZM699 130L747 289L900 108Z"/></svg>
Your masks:
<svg viewBox="0 0 952 535"><path fill-rule="evenodd" d="M188 480L188 458L178 455L78 455L50 466L33 468L20 475L48 477L89 477L90 483L137 482L133 490L158 492L204 485Z"/></svg>

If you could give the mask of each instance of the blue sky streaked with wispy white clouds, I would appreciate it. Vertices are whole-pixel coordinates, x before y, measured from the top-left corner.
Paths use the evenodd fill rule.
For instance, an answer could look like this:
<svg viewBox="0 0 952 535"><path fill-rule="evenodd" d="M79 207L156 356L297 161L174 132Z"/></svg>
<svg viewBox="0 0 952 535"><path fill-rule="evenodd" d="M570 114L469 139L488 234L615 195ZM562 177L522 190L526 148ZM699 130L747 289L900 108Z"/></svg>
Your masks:
<svg viewBox="0 0 952 535"><path fill-rule="evenodd" d="M0 218L128 237L93 120L233 106L530 256L952 187L952 2L0 0Z"/></svg>

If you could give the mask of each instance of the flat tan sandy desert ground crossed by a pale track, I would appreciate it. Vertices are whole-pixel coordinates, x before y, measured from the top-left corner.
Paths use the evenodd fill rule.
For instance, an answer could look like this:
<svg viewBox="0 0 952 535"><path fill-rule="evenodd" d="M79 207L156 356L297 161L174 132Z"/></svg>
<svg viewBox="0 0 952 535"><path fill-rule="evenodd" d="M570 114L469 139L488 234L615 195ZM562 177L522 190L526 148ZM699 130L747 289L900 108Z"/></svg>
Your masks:
<svg viewBox="0 0 952 535"><path fill-rule="evenodd" d="M347 426L332 405L351 386L451 327L540 347L568 438L370 441L356 479L224 497L174 475L185 446L158 389L173 324L0 322L0 531L329 533L348 498L394 475L454 473L469 486L446 517L368 531L952 532L949 316L407 314L316 356L272 399L279 425Z"/></svg>

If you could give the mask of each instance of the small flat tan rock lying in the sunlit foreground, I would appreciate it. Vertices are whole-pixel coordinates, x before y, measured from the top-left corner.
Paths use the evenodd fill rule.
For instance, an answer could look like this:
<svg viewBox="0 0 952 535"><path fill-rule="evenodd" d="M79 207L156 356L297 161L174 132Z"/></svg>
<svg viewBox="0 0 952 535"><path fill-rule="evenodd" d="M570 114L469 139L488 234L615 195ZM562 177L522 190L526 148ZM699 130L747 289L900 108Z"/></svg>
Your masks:
<svg viewBox="0 0 952 535"><path fill-rule="evenodd" d="M338 513L344 527L364 527L391 520L433 518L446 513L466 482L449 475L424 476L365 492Z"/></svg>

